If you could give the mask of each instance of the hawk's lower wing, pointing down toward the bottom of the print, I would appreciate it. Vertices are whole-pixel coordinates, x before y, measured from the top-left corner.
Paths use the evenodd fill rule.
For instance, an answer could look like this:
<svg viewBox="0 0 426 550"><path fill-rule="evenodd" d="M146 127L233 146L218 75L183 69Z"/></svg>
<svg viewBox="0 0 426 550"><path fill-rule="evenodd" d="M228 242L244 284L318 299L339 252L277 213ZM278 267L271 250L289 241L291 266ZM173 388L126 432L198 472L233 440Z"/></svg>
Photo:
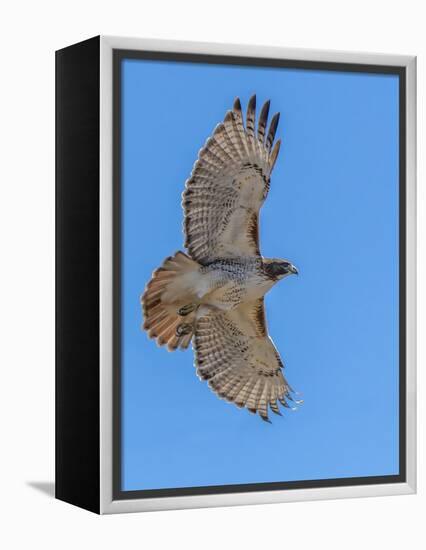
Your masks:
<svg viewBox="0 0 426 550"><path fill-rule="evenodd" d="M268 407L280 414L291 388L266 330L263 298L231 311L206 308L193 340L195 366L202 380L223 399L268 420Z"/></svg>

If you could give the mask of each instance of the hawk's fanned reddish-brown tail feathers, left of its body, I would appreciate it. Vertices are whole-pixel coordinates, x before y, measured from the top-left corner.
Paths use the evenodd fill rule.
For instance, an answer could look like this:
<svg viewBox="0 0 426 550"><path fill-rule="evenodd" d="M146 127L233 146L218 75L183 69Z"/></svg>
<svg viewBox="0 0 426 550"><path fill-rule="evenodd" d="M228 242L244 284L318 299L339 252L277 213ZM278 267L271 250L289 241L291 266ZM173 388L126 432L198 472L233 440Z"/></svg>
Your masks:
<svg viewBox="0 0 426 550"><path fill-rule="evenodd" d="M189 308L186 315L178 312L184 308L186 313L185 306L194 302L191 283L199 267L183 252L176 252L154 271L142 295L143 328L158 345L167 344L169 351L186 349L191 342L195 311Z"/></svg>

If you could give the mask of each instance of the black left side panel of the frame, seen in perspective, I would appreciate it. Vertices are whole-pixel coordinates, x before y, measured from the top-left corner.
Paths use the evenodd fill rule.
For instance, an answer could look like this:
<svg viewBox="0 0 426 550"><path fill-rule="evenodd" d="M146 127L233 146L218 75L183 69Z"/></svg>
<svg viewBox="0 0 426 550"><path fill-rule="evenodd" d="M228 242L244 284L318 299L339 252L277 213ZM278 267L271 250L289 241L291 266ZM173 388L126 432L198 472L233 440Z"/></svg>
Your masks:
<svg viewBox="0 0 426 550"><path fill-rule="evenodd" d="M56 489L100 511L100 37L56 52Z"/></svg>

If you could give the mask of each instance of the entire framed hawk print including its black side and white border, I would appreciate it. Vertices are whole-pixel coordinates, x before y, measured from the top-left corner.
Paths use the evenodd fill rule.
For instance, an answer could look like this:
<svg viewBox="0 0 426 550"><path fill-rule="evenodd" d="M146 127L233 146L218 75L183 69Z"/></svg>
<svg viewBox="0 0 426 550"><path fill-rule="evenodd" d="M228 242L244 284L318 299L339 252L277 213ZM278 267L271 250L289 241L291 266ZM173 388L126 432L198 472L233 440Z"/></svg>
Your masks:
<svg viewBox="0 0 426 550"><path fill-rule="evenodd" d="M415 58L56 54L56 496L415 492Z"/></svg>

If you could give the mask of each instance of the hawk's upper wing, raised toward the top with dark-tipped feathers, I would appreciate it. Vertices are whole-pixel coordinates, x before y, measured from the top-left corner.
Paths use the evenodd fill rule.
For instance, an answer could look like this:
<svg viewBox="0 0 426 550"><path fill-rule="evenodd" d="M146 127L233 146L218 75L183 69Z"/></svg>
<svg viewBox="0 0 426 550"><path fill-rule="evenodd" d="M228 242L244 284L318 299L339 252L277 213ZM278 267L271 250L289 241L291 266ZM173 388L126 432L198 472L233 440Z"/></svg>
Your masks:
<svg viewBox="0 0 426 550"><path fill-rule="evenodd" d="M269 101L255 129L256 96L247 108L244 128L240 100L200 150L186 181L185 246L190 256L207 263L215 258L260 256L258 216L280 148L275 143L279 113L267 131Z"/></svg>

